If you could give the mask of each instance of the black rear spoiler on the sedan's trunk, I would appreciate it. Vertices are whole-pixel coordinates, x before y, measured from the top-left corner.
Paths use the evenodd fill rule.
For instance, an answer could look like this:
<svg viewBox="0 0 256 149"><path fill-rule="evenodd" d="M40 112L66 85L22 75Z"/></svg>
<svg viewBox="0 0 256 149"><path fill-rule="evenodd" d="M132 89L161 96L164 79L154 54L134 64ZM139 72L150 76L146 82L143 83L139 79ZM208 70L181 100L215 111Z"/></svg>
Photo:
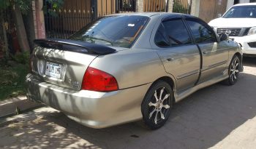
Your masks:
<svg viewBox="0 0 256 149"><path fill-rule="evenodd" d="M110 47L69 39L35 39L34 44L37 44L39 47L61 49L64 51L79 52L83 54L108 55L116 52L116 49Z"/></svg>

